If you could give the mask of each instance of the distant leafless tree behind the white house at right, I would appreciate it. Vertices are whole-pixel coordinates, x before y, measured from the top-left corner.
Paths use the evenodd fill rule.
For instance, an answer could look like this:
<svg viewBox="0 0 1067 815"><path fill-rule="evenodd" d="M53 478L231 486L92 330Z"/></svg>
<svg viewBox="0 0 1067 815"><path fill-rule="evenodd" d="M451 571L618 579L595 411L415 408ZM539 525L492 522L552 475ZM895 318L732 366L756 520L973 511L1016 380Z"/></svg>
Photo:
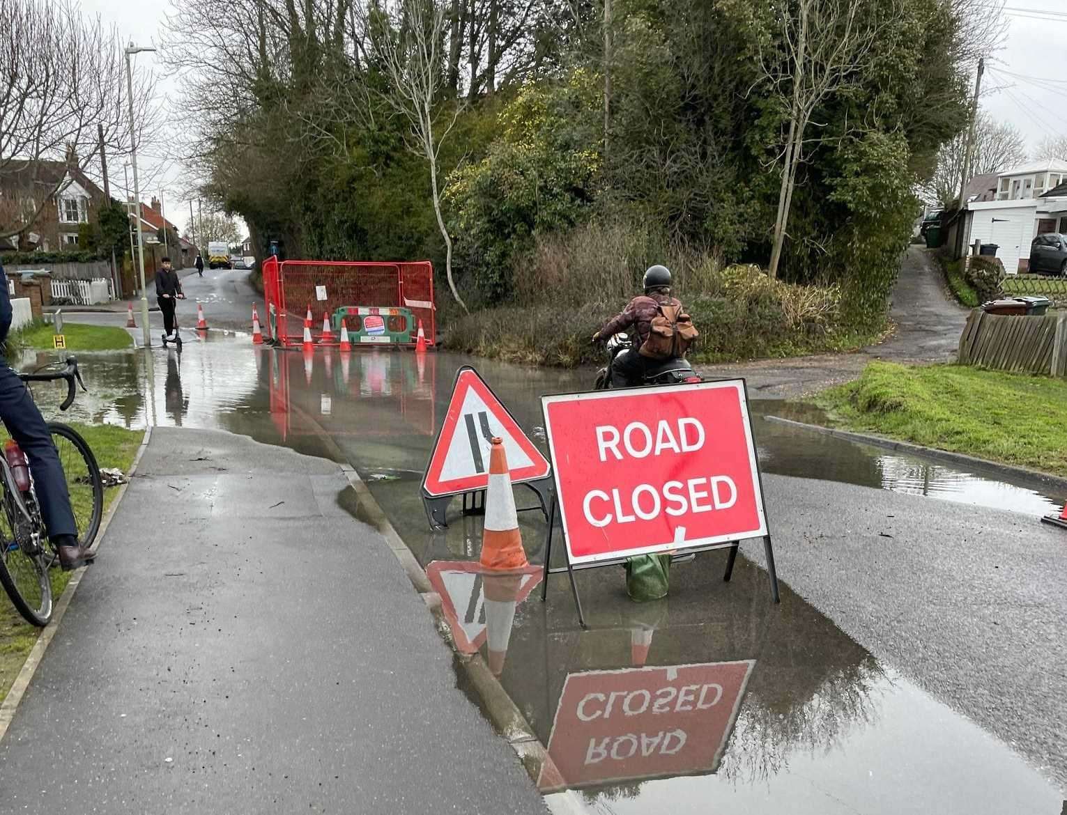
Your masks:
<svg viewBox="0 0 1067 815"><path fill-rule="evenodd" d="M926 198L942 207L950 206L956 199L962 179L966 148L966 131L941 147L934 176L923 189ZM978 113L974 126L972 150L972 177L1000 173L1026 161L1026 142L1022 133L1009 123L998 123L984 111ZM1067 158L1067 153L1064 155Z"/></svg>

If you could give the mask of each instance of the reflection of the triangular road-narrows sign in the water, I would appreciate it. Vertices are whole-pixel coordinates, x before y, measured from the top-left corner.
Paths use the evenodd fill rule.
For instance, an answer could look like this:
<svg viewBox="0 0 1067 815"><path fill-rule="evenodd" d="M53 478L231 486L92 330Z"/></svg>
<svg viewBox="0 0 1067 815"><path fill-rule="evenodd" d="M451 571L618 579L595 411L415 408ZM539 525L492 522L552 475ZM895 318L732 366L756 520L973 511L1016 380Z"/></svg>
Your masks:
<svg viewBox="0 0 1067 815"><path fill-rule="evenodd" d="M543 571L534 565L522 571L516 604L526 600L541 582ZM485 643L489 629L482 581L487 574L493 573L485 572L473 560L434 560L426 568L426 576L441 596L441 610L445 612L456 649L461 654L475 654Z"/></svg>

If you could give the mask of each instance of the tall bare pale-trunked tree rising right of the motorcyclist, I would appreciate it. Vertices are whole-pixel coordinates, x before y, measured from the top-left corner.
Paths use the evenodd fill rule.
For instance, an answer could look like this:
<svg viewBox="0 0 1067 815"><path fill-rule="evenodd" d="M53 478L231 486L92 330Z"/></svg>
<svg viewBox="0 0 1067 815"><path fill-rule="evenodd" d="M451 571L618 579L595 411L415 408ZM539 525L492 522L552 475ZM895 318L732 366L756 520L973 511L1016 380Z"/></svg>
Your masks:
<svg viewBox="0 0 1067 815"><path fill-rule="evenodd" d="M795 0L776 11L777 47L763 49L760 60L773 97L785 111L786 126L780 153L782 182L770 253L771 277L778 276L812 114L832 94L866 73L874 45L898 17L896 0L885 4Z"/></svg>

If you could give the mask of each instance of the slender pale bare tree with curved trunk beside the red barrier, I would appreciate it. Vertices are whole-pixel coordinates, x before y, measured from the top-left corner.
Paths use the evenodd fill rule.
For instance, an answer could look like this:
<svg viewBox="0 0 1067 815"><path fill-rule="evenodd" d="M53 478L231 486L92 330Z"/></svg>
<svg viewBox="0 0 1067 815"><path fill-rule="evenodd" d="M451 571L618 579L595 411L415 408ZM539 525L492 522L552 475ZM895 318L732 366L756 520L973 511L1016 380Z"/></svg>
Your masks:
<svg viewBox="0 0 1067 815"><path fill-rule="evenodd" d="M410 126L409 148L426 159L430 170L430 195L437 228L445 241L445 274L452 297L464 311L452 277L452 239L441 211L437 159L460 112L460 102L442 103L447 84L445 34L449 14L443 0L395 0L380 6L371 20L373 57L388 79L380 95Z"/></svg>

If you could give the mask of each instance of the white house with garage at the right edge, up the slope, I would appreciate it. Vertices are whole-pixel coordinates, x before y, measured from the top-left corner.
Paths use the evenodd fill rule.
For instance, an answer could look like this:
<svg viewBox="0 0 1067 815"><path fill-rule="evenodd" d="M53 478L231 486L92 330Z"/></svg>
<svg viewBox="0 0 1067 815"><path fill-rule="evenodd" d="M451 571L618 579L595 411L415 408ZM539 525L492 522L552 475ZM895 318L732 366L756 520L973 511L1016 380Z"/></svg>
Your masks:
<svg viewBox="0 0 1067 815"><path fill-rule="evenodd" d="M1067 234L1067 163L1047 161L1001 173L997 199L969 197L964 206L957 252L975 241L997 244L997 257L1008 274L1030 267L1030 245L1046 233Z"/></svg>

